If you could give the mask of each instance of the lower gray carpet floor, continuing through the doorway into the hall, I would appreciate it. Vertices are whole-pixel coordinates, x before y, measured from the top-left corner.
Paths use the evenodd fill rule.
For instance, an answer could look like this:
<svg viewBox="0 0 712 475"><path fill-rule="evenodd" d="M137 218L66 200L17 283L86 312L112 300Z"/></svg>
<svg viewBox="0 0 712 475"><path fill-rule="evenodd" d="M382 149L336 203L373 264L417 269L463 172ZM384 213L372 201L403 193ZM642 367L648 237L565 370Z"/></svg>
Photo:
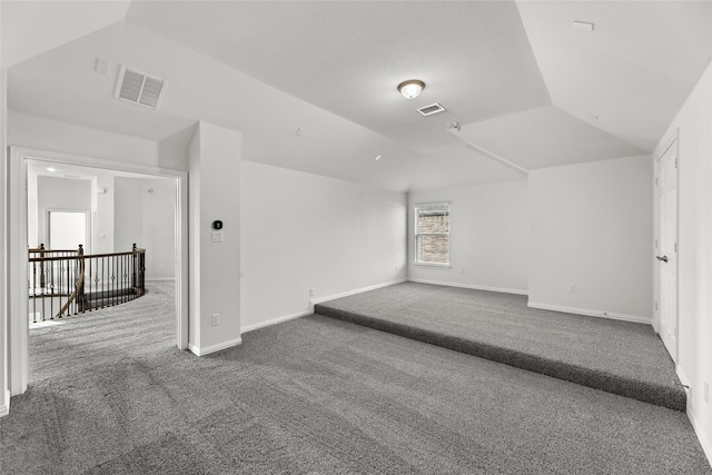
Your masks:
<svg viewBox="0 0 712 475"><path fill-rule="evenodd" d="M112 308L126 337L71 335L100 313L48 327L67 357L44 358L57 375L34 358L42 377L0 419L0 473L712 473L676 410L322 316L197 358L172 347L167 300Z"/></svg>

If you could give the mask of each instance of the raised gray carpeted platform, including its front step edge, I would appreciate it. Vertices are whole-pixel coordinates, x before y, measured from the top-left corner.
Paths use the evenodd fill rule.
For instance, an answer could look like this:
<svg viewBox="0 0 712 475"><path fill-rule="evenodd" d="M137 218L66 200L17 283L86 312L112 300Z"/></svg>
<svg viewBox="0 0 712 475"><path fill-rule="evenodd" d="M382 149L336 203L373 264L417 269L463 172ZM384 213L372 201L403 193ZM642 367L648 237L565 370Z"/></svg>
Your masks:
<svg viewBox="0 0 712 475"><path fill-rule="evenodd" d="M521 295L405 283L318 304L315 313L685 410L685 390L650 325L526 303Z"/></svg>

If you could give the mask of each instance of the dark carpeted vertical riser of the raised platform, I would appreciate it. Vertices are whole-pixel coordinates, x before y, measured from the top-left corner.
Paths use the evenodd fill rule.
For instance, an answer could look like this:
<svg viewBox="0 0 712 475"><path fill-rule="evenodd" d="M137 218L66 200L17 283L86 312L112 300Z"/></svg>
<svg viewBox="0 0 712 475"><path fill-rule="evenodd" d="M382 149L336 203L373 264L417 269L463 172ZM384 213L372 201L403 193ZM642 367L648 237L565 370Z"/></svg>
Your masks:
<svg viewBox="0 0 712 475"><path fill-rule="evenodd" d="M431 345L514 366L521 369L526 369L533 373L555 377L557 379L576 383L582 386L601 389L606 393L642 400L656 406L682 412L686 408L686 395L682 387L680 387L679 390L675 390L674 388L627 379L617 375L583 368L576 365L566 364L565 362L542 358L536 355L530 355L483 342L447 336L423 328L415 328L408 325L383 320L380 318L330 308L322 304L315 305L314 313L325 317L350 321L405 338L428 343Z"/></svg>

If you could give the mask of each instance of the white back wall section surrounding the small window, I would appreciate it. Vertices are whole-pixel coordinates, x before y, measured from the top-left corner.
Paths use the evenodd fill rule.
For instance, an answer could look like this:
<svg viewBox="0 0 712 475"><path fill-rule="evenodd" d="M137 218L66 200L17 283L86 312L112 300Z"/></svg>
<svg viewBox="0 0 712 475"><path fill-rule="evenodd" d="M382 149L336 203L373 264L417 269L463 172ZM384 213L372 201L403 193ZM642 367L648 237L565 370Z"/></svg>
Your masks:
<svg viewBox="0 0 712 475"><path fill-rule="evenodd" d="M414 265L413 206L451 202L451 267ZM408 198L408 279L526 294L527 182L413 191Z"/></svg>

